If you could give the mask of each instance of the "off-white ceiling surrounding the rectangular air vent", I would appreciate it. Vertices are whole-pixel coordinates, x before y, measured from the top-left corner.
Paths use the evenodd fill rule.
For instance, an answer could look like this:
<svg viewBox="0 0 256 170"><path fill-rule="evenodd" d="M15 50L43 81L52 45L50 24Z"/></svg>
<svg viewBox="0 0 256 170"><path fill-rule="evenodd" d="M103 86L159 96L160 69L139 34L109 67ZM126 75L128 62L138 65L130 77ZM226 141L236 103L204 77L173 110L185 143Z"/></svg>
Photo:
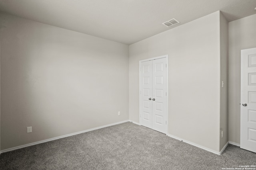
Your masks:
<svg viewBox="0 0 256 170"><path fill-rule="evenodd" d="M256 0L0 0L0 11L132 44L220 10L228 21L256 14ZM166 27L175 18L180 23Z"/></svg>

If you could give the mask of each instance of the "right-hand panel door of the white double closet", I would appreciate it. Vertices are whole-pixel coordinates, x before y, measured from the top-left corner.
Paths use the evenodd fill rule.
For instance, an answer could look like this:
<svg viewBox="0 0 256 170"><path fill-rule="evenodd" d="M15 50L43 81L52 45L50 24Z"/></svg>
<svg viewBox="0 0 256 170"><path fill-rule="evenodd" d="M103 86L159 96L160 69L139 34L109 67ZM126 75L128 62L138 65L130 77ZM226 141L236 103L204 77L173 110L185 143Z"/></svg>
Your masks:
<svg viewBox="0 0 256 170"><path fill-rule="evenodd" d="M166 133L166 58L152 61L152 129Z"/></svg>

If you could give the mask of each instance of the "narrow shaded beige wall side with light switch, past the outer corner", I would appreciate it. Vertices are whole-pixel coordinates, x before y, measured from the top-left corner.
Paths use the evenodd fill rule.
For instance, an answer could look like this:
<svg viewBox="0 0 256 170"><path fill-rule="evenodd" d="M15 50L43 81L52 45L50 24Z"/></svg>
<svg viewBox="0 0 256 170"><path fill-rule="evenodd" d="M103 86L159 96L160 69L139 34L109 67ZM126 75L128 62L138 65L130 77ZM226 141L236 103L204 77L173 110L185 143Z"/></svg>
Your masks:
<svg viewBox="0 0 256 170"><path fill-rule="evenodd" d="M220 13L220 150L228 142L228 21ZM221 137L223 131L223 137Z"/></svg>

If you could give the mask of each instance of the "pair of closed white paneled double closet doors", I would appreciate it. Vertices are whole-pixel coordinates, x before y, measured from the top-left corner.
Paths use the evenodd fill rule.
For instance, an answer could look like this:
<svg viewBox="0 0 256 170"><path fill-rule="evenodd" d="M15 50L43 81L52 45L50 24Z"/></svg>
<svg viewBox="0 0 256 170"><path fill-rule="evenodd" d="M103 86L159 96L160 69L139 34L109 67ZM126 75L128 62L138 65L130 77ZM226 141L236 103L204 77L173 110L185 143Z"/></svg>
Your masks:
<svg viewBox="0 0 256 170"><path fill-rule="evenodd" d="M140 65L140 124L166 133L166 58Z"/></svg>

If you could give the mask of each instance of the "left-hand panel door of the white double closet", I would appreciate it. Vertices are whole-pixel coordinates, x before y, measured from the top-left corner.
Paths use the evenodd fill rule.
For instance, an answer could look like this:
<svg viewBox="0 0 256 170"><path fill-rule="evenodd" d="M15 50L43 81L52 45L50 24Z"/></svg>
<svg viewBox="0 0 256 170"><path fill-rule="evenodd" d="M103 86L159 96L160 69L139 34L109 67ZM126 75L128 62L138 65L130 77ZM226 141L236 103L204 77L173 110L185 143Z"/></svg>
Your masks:
<svg viewBox="0 0 256 170"><path fill-rule="evenodd" d="M142 62L140 68L140 123L152 128L152 61Z"/></svg>

